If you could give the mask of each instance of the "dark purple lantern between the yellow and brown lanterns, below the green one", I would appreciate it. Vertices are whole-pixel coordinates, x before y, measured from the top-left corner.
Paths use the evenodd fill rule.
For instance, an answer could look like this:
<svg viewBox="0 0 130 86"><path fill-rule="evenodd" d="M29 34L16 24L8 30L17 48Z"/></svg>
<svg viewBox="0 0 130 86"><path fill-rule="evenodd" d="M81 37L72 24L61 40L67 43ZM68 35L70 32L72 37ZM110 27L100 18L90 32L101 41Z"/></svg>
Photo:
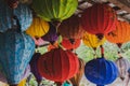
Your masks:
<svg viewBox="0 0 130 86"><path fill-rule="evenodd" d="M50 43L54 43L57 40L58 35L56 33L56 28L50 24L49 32L42 37L44 41L49 41Z"/></svg>

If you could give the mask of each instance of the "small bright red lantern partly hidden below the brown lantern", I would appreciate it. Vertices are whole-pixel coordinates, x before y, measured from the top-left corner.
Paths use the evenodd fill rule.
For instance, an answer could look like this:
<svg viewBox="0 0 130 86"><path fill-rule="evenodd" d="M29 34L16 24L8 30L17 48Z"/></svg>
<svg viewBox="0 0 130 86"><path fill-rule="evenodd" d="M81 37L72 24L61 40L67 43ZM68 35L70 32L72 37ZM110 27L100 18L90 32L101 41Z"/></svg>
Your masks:
<svg viewBox="0 0 130 86"><path fill-rule="evenodd" d="M66 49L76 49L77 47L79 47L80 43L80 39L63 39L63 41L61 42L62 46Z"/></svg>

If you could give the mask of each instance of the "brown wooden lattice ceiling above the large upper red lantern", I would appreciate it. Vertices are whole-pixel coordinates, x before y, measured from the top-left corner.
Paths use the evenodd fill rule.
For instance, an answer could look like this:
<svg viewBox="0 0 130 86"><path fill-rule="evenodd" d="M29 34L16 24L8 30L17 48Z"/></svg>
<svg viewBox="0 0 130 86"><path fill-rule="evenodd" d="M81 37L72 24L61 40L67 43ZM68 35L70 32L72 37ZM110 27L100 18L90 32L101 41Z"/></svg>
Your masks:
<svg viewBox="0 0 130 86"><path fill-rule="evenodd" d="M78 0L79 5L76 14L80 14L89 6L92 6L94 3L104 3L112 6L117 15L118 19L126 20L130 23L130 0Z"/></svg>

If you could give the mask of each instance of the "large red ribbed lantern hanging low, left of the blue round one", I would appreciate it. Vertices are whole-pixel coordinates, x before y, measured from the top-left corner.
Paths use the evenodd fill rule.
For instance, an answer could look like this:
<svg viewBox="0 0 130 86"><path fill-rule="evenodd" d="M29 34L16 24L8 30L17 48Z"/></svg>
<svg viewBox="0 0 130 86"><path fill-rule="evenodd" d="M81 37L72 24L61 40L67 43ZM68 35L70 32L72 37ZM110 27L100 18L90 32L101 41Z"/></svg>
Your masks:
<svg viewBox="0 0 130 86"><path fill-rule="evenodd" d="M38 59L39 73L43 77L60 84L73 77L78 72L78 57L70 51L63 51L62 48L54 48Z"/></svg>

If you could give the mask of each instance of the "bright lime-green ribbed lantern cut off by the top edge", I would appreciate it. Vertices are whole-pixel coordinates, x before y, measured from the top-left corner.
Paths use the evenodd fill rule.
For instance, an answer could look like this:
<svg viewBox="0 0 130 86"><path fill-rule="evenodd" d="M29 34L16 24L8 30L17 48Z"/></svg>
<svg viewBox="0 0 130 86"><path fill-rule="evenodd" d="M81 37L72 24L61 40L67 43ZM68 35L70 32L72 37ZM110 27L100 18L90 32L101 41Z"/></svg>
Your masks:
<svg viewBox="0 0 130 86"><path fill-rule="evenodd" d="M70 17L78 6L78 0L32 0L32 9L47 22L62 22Z"/></svg>

